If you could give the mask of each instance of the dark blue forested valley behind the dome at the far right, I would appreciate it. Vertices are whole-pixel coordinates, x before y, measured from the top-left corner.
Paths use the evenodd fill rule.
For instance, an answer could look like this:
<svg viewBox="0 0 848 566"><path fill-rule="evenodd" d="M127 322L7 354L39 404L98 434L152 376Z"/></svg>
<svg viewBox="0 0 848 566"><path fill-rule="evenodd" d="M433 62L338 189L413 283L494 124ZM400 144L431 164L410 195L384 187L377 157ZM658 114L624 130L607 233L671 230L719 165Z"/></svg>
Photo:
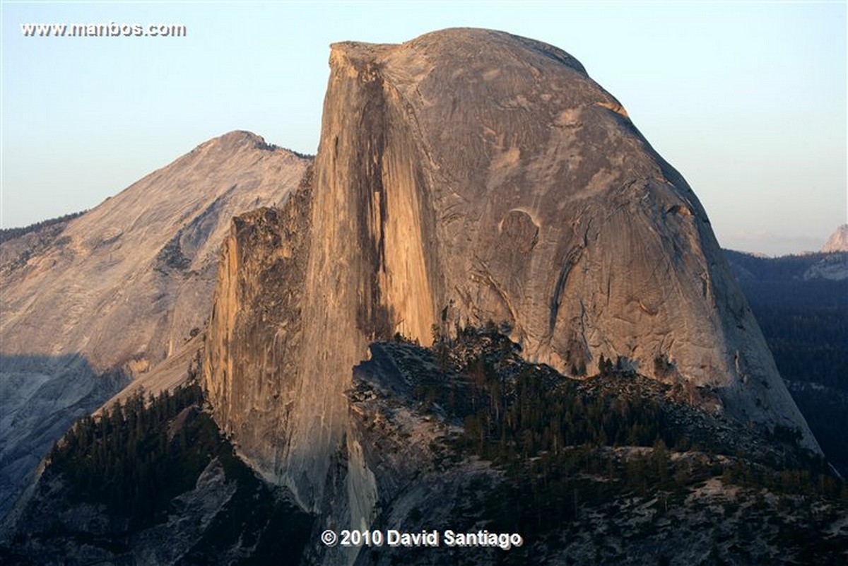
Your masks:
<svg viewBox="0 0 848 566"><path fill-rule="evenodd" d="M823 276L836 273L828 265L848 265L848 254L724 254L807 425L828 460L848 475L848 277Z"/></svg>

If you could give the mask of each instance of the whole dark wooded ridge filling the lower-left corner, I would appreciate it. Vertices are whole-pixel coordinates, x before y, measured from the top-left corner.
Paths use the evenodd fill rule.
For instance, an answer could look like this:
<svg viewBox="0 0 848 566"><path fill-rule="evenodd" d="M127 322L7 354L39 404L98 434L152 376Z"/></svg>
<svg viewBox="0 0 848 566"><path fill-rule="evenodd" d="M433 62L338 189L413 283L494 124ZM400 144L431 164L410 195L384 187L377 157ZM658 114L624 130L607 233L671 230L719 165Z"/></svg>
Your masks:
<svg viewBox="0 0 848 566"><path fill-rule="evenodd" d="M0 563L300 563L313 518L237 458L196 376L77 421L0 532Z"/></svg>

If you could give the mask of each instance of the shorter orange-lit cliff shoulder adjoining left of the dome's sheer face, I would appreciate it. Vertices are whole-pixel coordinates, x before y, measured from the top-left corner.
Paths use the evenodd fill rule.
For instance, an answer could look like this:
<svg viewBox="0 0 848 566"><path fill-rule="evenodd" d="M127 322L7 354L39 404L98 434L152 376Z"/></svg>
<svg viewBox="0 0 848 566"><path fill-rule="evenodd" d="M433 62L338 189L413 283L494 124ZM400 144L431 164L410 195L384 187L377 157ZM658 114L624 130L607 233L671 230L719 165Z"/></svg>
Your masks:
<svg viewBox="0 0 848 566"><path fill-rule="evenodd" d="M304 344L310 174L285 208L232 220L218 268L204 384L215 419L240 455L280 483ZM316 385L315 388L320 386Z"/></svg>

